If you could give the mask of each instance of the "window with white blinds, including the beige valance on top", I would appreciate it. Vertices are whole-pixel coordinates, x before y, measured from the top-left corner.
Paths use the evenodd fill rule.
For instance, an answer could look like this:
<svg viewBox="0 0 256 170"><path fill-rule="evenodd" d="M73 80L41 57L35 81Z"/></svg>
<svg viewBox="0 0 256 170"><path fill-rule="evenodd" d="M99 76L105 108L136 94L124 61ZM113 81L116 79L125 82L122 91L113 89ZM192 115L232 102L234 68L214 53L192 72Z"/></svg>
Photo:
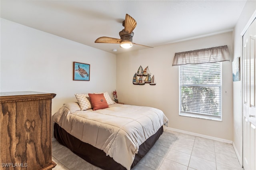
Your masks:
<svg viewBox="0 0 256 170"><path fill-rule="evenodd" d="M229 61L228 46L175 53L179 65L179 115L221 121L221 62Z"/></svg>

